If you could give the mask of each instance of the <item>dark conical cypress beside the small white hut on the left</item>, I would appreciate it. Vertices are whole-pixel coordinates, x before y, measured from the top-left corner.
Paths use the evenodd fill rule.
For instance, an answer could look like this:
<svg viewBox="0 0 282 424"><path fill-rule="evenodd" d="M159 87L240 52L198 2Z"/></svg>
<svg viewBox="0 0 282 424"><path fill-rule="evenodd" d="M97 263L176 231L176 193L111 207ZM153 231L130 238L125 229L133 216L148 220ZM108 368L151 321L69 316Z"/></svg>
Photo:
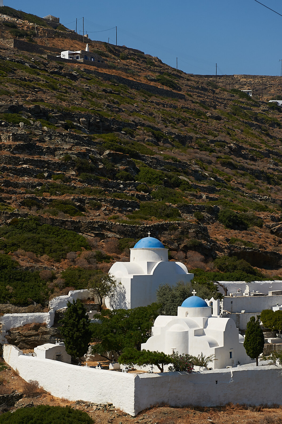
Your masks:
<svg viewBox="0 0 282 424"><path fill-rule="evenodd" d="M91 340L90 320L80 299L68 302L64 318L59 322L66 351L74 358L80 358L88 351Z"/></svg>

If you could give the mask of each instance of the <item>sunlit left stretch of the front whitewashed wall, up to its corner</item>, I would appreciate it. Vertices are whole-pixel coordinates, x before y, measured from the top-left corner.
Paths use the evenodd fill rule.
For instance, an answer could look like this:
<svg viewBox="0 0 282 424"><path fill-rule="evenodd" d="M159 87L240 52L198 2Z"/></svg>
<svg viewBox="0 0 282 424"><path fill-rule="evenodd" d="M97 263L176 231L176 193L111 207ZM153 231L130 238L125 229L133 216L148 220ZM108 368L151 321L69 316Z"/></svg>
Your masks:
<svg viewBox="0 0 282 424"><path fill-rule="evenodd" d="M79 367L50 359L26 356L12 345L3 346L6 363L28 380L36 380L53 396L96 403L111 402L135 415L135 374Z"/></svg>

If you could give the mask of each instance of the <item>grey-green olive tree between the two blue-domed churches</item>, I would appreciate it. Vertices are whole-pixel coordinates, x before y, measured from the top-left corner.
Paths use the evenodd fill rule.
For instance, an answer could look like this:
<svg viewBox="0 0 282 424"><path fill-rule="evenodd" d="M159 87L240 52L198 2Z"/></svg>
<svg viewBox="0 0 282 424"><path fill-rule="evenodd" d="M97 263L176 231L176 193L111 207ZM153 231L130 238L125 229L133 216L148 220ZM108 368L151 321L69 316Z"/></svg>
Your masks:
<svg viewBox="0 0 282 424"><path fill-rule="evenodd" d="M210 282L199 284L197 282L185 283L179 281L172 287L169 284L163 284L157 290L158 303L162 304L160 309L161 314L177 315L177 308L182 305L185 299L192 296L193 289L196 290L197 296L203 299L221 297L221 293L218 292L216 285L210 284Z"/></svg>

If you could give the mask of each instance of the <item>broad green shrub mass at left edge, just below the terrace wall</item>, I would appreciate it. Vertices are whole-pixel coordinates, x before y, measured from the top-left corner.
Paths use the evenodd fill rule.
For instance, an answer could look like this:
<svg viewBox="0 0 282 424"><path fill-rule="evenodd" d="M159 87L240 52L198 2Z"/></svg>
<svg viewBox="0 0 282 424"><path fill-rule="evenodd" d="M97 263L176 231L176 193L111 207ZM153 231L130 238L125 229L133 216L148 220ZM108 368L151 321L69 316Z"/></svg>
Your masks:
<svg viewBox="0 0 282 424"><path fill-rule="evenodd" d="M66 258L68 252L90 249L83 236L74 231L41 224L37 217L20 219L15 225L2 226L0 237L5 243L6 253L23 249L36 255L47 254L56 261Z"/></svg>

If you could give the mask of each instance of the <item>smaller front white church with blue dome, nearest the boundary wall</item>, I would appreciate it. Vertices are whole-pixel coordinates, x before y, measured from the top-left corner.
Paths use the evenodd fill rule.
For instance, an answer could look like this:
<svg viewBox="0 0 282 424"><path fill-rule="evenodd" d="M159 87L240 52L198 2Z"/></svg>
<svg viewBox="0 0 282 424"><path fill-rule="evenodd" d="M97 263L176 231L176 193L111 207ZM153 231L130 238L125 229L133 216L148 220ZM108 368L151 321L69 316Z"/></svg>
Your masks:
<svg viewBox="0 0 282 424"><path fill-rule="evenodd" d="M195 293L195 292L194 292ZM152 336L141 349L172 354L214 354L213 369L254 362L246 354L244 338L231 318L212 317L211 307L198 296L188 297L177 316L159 315Z"/></svg>

